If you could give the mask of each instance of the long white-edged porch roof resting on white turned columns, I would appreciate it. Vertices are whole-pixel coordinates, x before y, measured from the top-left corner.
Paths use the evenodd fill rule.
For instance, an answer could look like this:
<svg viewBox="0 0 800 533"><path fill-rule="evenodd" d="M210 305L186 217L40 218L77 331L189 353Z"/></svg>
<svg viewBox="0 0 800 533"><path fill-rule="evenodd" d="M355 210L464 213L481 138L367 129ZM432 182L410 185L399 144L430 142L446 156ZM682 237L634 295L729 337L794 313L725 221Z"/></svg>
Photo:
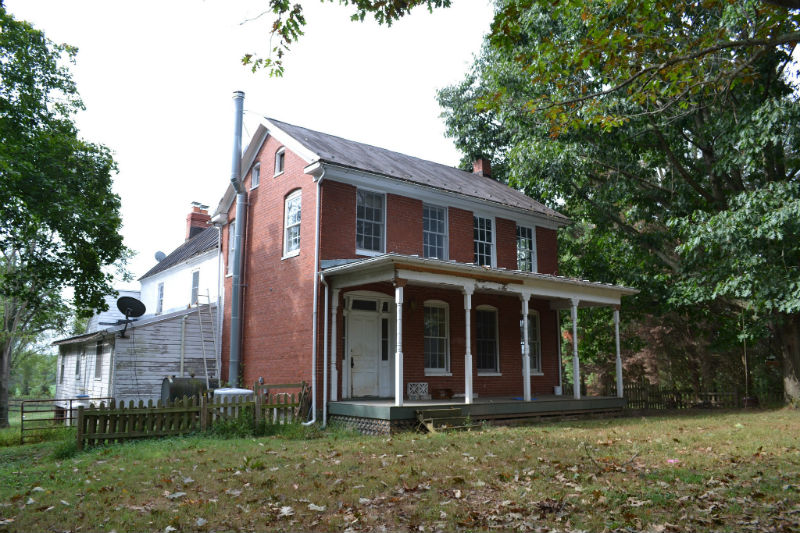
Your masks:
<svg viewBox="0 0 800 533"><path fill-rule="evenodd" d="M326 268L327 267L327 268ZM552 274L489 268L417 255L387 253L366 259L323 261L323 275L333 288L381 281L405 280L412 285L450 286L454 289L528 294L550 300L553 309L566 309L572 300L580 307L619 305L623 296L637 294L631 287Z"/></svg>

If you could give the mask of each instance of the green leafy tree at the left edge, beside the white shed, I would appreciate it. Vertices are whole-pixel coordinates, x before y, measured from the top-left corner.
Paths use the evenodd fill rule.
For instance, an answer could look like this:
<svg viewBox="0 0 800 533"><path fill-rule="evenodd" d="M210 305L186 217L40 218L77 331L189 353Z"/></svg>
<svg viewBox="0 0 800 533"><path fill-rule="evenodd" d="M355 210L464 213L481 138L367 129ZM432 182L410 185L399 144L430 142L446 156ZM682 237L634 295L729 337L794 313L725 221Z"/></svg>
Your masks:
<svg viewBox="0 0 800 533"><path fill-rule="evenodd" d="M0 3L0 427L12 358L66 323L65 287L82 312L102 309L112 292L106 267L126 252L115 163L73 122L83 104L61 61L75 54Z"/></svg>

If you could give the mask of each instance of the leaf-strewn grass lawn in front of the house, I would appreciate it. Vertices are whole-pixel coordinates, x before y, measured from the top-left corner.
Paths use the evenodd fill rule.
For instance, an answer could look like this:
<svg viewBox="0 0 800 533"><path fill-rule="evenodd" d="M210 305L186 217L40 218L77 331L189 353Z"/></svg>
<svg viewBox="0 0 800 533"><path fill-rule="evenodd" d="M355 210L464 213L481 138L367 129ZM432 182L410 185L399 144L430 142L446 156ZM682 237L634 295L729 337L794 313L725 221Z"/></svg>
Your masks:
<svg viewBox="0 0 800 533"><path fill-rule="evenodd" d="M0 448L0 531L800 530L795 410L299 433Z"/></svg>

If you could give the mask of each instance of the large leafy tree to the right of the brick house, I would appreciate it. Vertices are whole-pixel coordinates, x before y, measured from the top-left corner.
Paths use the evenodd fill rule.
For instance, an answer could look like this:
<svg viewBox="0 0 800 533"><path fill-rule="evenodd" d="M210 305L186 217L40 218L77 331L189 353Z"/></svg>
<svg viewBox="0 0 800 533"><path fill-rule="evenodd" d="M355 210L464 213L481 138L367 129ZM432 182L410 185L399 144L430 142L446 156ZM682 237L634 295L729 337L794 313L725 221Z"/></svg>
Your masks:
<svg viewBox="0 0 800 533"><path fill-rule="evenodd" d="M797 15L752 2L689 2L677 15L653 14L661 24L653 41L623 46L649 35L644 4L604 2L607 14L570 5L498 5L501 14L515 6L516 16L498 15L472 71L439 97L465 161L501 162L511 185L583 221L592 239L576 264L642 289L632 301L642 317L685 316L694 336L708 337L704 346L721 350L737 338L743 310L771 328L783 346L785 393L797 401L800 239L791 215L800 121L787 76L794 44L769 37L791 33ZM694 83L656 69L646 84L604 89L668 61L661 49L670 43L670 57L683 57L688 43L746 35L770 42L722 47L727 60L711 52L707 61L687 59Z"/></svg>

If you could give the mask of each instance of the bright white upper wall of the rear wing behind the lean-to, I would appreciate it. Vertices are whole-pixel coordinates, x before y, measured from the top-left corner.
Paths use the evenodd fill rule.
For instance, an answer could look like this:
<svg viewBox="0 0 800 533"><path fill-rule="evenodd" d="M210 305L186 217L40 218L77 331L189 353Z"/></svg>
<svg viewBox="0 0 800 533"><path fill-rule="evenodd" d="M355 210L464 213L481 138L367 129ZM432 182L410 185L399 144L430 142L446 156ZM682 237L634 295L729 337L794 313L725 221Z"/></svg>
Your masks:
<svg viewBox="0 0 800 533"><path fill-rule="evenodd" d="M189 307L192 296L192 272L195 270L200 271L199 302L201 304L208 303L205 298L206 294L211 297L212 303L216 302L219 282L218 264L217 249L214 248L184 263L143 279L141 282L141 299L145 307L147 307L145 314L152 316L156 312L159 283L164 283L162 314L180 311Z"/></svg>

